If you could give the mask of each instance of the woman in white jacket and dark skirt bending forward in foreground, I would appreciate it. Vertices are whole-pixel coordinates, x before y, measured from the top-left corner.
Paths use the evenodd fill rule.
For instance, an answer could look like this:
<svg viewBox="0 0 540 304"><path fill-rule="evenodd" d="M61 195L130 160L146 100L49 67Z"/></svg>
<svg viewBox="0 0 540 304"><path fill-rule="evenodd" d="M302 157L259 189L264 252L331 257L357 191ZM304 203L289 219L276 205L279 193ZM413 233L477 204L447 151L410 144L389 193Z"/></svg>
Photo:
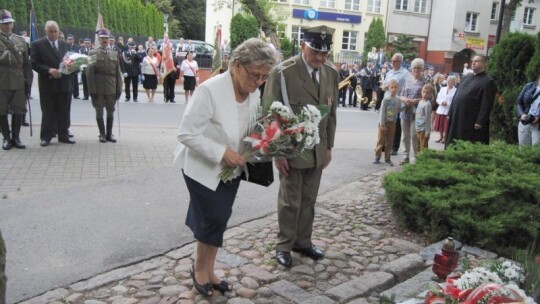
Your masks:
<svg viewBox="0 0 540 304"><path fill-rule="evenodd" d="M193 94L180 124L175 159L190 195L186 225L197 240L191 276L193 286L204 296L213 289L231 290L214 273L214 263L246 162L241 140L257 114L258 87L268 78L276 58L276 51L264 41L246 40L232 52L229 69ZM218 175L224 167L240 170L223 182Z"/></svg>

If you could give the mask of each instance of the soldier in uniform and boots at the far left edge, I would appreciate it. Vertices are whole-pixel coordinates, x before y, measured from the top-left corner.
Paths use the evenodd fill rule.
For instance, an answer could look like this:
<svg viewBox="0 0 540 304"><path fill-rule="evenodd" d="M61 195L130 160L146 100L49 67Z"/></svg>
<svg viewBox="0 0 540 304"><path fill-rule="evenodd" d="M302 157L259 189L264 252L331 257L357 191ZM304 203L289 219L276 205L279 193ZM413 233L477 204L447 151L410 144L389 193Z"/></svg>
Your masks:
<svg viewBox="0 0 540 304"><path fill-rule="evenodd" d="M13 17L8 10L0 10L0 129L4 139L2 149L24 149L19 133L26 113L26 97L32 87L32 66L28 47L23 37L13 34ZM11 134L8 122L11 108Z"/></svg>

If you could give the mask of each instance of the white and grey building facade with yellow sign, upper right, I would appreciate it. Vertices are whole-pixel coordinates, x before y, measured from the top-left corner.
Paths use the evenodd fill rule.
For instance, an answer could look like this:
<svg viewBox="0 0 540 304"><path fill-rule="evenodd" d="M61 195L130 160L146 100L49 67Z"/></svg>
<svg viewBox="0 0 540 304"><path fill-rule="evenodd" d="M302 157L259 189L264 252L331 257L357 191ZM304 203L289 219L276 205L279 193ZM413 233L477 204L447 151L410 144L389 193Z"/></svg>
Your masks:
<svg viewBox="0 0 540 304"><path fill-rule="evenodd" d="M389 0L388 42L396 34L415 36L419 57L439 71L461 72L475 54L495 45L500 0ZM523 0L511 31L536 34L540 0Z"/></svg>

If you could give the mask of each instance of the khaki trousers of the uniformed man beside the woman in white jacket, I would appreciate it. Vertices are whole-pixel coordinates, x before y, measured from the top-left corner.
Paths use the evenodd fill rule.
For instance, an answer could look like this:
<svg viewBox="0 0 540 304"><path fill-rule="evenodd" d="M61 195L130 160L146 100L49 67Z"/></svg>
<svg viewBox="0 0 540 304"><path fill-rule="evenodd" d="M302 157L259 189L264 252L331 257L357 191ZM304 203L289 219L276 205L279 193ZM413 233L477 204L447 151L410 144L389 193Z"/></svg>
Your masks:
<svg viewBox="0 0 540 304"><path fill-rule="evenodd" d="M311 248L315 202L322 171L322 166L310 169L289 167L289 176L280 174L276 251Z"/></svg>

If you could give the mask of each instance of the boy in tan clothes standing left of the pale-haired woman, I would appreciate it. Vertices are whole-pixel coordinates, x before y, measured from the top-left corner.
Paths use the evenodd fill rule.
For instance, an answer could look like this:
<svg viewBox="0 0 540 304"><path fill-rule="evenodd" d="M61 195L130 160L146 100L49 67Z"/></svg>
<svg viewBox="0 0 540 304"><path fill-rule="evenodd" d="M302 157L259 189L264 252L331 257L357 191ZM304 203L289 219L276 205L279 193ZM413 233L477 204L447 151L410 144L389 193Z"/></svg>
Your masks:
<svg viewBox="0 0 540 304"><path fill-rule="evenodd" d="M397 115L401 107L401 100L396 96L399 91L399 83L394 79L390 80L388 82L388 91L390 95L383 99L379 111L379 132L377 146L375 147L375 161L373 163L380 163L384 147L384 162L389 166L393 166L390 155L392 153L394 133L396 132Z"/></svg>

